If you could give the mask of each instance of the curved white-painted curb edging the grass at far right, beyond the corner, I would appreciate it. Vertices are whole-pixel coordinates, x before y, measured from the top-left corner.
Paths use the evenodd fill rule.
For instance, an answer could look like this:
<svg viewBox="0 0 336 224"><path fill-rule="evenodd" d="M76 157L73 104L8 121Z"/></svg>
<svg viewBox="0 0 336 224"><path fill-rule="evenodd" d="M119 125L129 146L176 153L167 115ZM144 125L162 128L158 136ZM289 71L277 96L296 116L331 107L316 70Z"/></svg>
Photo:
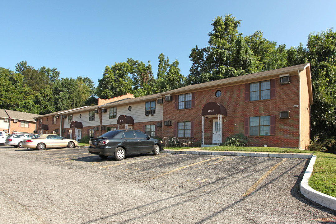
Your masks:
<svg viewBox="0 0 336 224"><path fill-rule="evenodd" d="M308 185L308 180L313 171L313 166L315 164L315 161L316 161L316 155L313 155L312 158L310 159L306 172L304 172L304 175L303 175L303 178L300 184L301 194L303 194L306 198L312 201L315 201L316 203L319 203L320 205L323 205L324 207L336 210L336 197L332 197L327 194L321 193L317 190L312 189Z"/></svg>

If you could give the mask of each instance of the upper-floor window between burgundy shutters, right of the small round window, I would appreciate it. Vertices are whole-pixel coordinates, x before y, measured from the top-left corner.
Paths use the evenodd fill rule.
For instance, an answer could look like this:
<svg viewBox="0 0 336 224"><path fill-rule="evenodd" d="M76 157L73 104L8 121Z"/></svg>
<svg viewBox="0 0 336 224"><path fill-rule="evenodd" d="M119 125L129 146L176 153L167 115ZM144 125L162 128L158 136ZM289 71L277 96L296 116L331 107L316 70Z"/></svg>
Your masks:
<svg viewBox="0 0 336 224"><path fill-rule="evenodd" d="M250 83L250 101L271 98L271 81Z"/></svg>

